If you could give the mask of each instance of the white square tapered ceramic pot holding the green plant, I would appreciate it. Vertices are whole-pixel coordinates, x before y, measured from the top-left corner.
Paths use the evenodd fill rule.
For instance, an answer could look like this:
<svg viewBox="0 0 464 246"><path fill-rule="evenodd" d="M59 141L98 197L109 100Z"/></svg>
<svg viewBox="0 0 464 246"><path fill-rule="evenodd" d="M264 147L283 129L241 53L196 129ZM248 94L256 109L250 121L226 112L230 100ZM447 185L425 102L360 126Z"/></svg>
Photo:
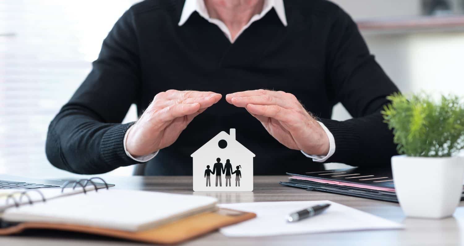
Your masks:
<svg viewBox="0 0 464 246"><path fill-rule="evenodd" d="M393 182L406 216L451 216L463 192L461 157L392 157Z"/></svg>

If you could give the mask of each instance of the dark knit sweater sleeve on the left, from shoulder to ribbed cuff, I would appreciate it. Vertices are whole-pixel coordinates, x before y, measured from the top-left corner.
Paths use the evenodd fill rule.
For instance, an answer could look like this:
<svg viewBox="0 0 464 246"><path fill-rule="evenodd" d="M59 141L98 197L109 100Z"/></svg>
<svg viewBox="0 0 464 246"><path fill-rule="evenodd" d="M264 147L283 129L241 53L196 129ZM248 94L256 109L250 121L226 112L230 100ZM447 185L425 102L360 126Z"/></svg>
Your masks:
<svg viewBox="0 0 464 246"><path fill-rule="evenodd" d="M54 166L97 174L137 163L123 146L121 124L139 88L134 17L127 11L104 39L92 70L48 128L45 152Z"/></svg>

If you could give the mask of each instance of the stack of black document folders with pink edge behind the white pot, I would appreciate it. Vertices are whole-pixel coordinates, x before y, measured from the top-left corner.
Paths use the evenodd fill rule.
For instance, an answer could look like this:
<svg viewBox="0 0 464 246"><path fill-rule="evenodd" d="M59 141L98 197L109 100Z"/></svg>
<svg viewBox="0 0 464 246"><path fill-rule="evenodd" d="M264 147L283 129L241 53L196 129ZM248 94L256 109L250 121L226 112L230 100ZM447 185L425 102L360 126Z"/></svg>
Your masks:
<svg viewBox="0 0 464 246"><path fill-rule="evenodd" d="M288 172L290 178L280 184L290 187L398 202L390 168L348 168L306 173ZM464 197L461 197L464 200Z"/></svg>

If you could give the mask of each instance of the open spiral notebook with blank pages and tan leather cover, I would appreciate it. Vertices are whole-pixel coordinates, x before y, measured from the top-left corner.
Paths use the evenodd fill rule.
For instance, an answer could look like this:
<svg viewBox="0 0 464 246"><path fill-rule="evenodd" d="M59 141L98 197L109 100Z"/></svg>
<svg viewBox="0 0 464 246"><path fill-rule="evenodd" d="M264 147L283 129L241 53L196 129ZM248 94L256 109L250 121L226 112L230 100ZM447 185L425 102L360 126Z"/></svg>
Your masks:
<svg viewBox="0 0 464 246"><path fill-rule="evenodd" d="M40 191L21 192L27 202L10 194L16 200L4 206L0 235L55 229L169 244L256 216L218 209L217 199L208 196L122 189L83 190L68 195L64 195L66 188L63 191L50 199L46 194L32 197Z"/></svg>

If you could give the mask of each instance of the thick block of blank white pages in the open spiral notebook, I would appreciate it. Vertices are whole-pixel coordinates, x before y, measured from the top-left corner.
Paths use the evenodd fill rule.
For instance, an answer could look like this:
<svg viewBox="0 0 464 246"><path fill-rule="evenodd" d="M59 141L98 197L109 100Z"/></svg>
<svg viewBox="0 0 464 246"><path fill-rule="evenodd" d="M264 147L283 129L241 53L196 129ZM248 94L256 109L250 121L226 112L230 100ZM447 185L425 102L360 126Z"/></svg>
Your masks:
<svg viewBox="0 0 464 246"><path fill-rule="evenodd" d="M215 208L217 199L139 190L100 189L8 208L5 221L55 222L139 231Z"/></svg>

